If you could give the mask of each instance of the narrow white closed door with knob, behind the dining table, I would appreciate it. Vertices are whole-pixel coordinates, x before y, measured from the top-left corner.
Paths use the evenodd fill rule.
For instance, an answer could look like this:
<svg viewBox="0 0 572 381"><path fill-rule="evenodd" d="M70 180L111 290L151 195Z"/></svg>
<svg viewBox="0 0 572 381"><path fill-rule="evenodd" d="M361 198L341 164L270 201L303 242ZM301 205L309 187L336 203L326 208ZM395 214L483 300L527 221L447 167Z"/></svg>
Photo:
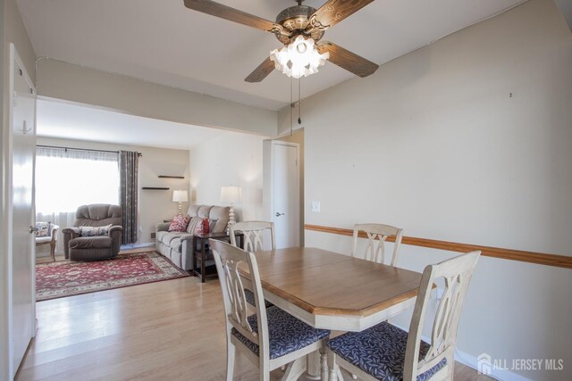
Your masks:
<svg viewBox="0 0 572 381"><path fill-rule="evenodd" d="M299 145L273 142L272 155L272 219L276 248L299 246Z"/></svg>

